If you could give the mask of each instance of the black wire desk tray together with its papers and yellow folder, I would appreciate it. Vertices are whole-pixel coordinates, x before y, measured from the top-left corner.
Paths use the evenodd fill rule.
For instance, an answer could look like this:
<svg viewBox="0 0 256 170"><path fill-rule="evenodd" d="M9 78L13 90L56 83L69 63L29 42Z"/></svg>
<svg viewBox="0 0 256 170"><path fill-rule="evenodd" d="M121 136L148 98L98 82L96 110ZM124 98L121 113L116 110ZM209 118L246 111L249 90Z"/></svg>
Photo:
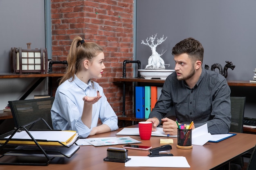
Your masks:
<svg viewBox="0 0 256 170"><path fill-rule="evenodd" d="M67 157L70 158L79 150L79 146L75 142L79 139L75 131L63 131L62 130L27 130L27 126L35 124L40 119L33 121L25 126L20 126L15 130L0 135L0 165L48 165L55 157ZM46 123L46 122L45 122ZM46 123L47 124L47 123ZM52 136L53 133L56 136ZM49 137L45 134L48 133ZM49 133L52 133L49 135ZM64 137L61 137L64 135ZM46 139L42 139L45 138ZM61 137L61 141L58 141ZM56 141L54 141L55 139ZM44 157L46 159L40 160L35 163L32 159L31 162L8 162L7 159L1 161L4 156L27 156L27 157Z"/></svg>

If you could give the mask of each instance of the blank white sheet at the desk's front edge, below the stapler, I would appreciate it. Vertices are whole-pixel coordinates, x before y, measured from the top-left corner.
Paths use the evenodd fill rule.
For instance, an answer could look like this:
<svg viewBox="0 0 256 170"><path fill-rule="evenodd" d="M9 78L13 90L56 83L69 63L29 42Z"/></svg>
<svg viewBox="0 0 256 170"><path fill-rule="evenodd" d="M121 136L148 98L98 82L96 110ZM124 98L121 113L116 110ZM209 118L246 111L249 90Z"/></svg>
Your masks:
<svg viewBox="0 0 256 170"><path fill-rule="evenodd" d="M131 158L124 166L126 167L173 167L190 168L186 157L139 157L128 156Z"/></svg>

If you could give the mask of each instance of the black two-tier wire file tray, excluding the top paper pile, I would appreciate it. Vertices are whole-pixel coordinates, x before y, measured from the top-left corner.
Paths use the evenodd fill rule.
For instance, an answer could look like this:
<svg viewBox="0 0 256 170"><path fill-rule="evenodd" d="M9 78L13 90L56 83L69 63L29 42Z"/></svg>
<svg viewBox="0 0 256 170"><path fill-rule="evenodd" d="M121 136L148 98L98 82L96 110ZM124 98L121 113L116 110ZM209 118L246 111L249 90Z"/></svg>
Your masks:
<svg viewBox="0 0 256 170"><path fill-rule="evenodd" d="M42 118L36 120L40 121ZM41 140L36 140L31 135L29 130L27 130L26 126L31 124L35 124L36 121L33 121L27 125L20 126L15 130L5 133L4 135L0 135L0 140L6 140L2 146L0 146L0 165L29 165L29 166L47 166L52 159L55 157L66 157L70 158L74 155L74 153L79 150L79 146L72 144L71 146L66 146L62 142L58 141L61 146L52 147L52 146L40 146L38 142ZM46 122L45 122L46 123ZM47 124L47 123L46 123ZM48 124L47 124L48 125ZM49 125L48 125L49 126ZM31 137L30 139L12 139L13 135L16 132L20 132L21 130L25 130L27 135ZM49 130L51 128L49 127ZM56 130L55 130L56 131ZM11 135L8 139L4 138ZM75 140L77 141L79 137ZM8 144L10 140L15 141L33 141L35 145L18 145L18 144ZM54 141L56 142L56 141ZM4 157L16 157L16 159L9 162L9 159L4 159ZM4 160L4 161L1 161Z"/></svg>

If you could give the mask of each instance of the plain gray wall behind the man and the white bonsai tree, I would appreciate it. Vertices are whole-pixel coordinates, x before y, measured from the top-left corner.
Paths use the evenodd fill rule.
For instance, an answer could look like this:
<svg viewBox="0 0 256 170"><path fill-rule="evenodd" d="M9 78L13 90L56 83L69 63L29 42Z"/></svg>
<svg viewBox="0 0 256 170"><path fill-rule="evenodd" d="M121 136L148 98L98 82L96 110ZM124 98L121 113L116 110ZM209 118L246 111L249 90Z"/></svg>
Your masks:
<svg viewBox="0 0 256 170"><path fill-rule="evenodd" d="M256 0L137 0L136 60L145 68L150 47L141 44L150 35L168 37L157 46L174 68L172 47L193 37L204 46L204 64L232 61L228 80L252 79L256 68ZM216 70L217 71L217 70Z"/></svg>

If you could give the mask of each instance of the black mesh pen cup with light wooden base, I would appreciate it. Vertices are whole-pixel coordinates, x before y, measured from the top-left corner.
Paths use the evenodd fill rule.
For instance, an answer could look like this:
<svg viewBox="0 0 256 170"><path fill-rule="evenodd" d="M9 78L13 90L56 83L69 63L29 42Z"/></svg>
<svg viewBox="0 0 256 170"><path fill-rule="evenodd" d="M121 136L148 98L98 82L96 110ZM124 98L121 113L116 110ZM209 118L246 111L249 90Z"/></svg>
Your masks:
<svg viewBox="0 0 256 170"><path fill-rule="evenodd" d="M192 146L192 129L178 129L177 148L191 149Z"/></svg>

